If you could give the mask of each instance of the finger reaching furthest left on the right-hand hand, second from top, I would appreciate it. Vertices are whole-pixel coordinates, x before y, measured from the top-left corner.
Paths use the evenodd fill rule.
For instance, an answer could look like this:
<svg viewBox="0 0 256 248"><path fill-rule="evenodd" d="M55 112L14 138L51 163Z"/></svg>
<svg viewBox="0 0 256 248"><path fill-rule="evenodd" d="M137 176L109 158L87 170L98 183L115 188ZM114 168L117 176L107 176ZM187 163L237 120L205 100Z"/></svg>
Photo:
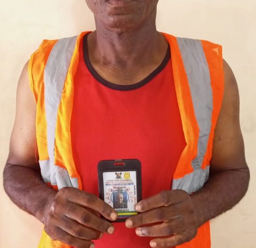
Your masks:
<svg viewBox="0 0 256 248"><path fill-rule="evenodd" d="M128 228L133 228L178 217L180 217L178 209L173 207L160 207L128 218L125 221L125 225Z"/></svg>

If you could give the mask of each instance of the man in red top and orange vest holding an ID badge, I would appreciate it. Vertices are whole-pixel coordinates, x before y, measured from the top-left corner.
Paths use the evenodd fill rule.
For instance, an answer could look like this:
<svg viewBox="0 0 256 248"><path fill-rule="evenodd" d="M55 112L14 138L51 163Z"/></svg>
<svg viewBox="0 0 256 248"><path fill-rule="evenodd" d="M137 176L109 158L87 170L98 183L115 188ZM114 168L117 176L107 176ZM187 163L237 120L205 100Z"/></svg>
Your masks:
<svg viewBox="0 0 256 248"><path fill-rule="evenodd" d="M7 194L44 224L42 248L210 247L208 221L249 182L221 46L156 31L158 0L86 2L96 31L44 40L24 66ZM142 166L125 225L97 197L97 163L117 158Z"/></svg>

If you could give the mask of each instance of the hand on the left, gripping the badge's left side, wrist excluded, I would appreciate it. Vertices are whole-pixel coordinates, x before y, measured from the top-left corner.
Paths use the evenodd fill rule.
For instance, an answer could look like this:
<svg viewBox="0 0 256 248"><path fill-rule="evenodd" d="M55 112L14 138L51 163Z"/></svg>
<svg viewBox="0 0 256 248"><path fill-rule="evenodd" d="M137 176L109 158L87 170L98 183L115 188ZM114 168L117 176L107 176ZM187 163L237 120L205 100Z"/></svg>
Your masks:
<svg viewBox="0 0 256 248"><path fill-rule="evenodd" d="M77 248L92 248L91 240L114 232L113 225L100 218L100 214L111 221L117 218L115 210L95 195L65 187L53 196L45 209L44 230L52 240Z"/></svg>

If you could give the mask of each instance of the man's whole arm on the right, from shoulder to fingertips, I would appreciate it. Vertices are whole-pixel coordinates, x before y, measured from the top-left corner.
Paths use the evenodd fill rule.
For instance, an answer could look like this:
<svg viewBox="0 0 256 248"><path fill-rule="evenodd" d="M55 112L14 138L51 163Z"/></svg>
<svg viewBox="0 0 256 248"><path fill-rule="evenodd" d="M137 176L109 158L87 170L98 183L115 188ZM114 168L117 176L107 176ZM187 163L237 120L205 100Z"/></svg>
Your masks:
<svg viewBox="0 0 256 248"><path fill-rule="evenodd" d="M240 129L238 87L225 61L224 76L224 98L215 129L208 182L191 196L183 190L167 190L144 199L136 205L141 213L126 220L128 228L138 227L137 235L157 237L150 242L151 247L172 247L192 240L200 225L231 209L248 189L250 173ZM164 222L159 224L161 221Z"/></svg>

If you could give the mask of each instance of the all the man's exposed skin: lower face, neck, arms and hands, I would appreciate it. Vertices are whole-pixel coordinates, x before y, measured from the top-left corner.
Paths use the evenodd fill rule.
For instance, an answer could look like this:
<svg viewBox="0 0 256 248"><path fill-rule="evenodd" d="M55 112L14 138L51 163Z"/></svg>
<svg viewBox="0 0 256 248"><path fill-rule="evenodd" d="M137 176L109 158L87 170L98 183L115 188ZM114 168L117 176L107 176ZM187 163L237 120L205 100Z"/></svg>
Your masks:
<svg viewBox="0 0 256 248"><path fill-rule="evenodd" d="M88 36L89 57L106 80L123 85L136 83L164 58L168 44L156 31L157 2L87 0L96 20L96 31ZM27 71L28 64L17 89L16 120L4 169L4 189L16 205L45 225L53 240L78 248L93 247L91 240L114 232L112 224L99 214L114 220L116 212L87 192L74 188L56 192L45 185L35 162L36 104ZM172 247L191 240L200 225L231 209L248 189L239 94L226 62L224 74L224 99L215 129L208 182L192 195L183 190L167 190L143 199L136 205L141 213L125 222L128 228L136 228L137 235L154 237L152 247ZM149 223L150 227L143 227Z"/></svg>

